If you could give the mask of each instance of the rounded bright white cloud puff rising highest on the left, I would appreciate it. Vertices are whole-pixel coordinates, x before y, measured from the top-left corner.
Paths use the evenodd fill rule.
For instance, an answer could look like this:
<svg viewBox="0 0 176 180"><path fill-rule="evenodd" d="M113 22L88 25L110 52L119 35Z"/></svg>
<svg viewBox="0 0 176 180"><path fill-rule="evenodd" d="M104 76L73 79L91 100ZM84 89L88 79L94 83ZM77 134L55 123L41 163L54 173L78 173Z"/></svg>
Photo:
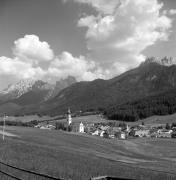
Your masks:
<svg viewBox="0 0 176 180"><path fill-rule="evenodd" d="M47 42L41 42L36 35L25 35L14 42L13 53L27 61L50 61L54 57L53 50Z"/></svg>

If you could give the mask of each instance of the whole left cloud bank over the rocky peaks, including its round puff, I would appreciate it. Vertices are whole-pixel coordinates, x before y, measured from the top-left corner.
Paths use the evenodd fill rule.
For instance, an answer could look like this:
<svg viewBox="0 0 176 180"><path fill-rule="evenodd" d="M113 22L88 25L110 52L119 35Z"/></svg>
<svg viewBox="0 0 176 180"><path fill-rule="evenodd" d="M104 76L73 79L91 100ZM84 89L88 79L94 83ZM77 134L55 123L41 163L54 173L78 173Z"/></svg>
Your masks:
<svg viewBox="0 0 176 180"><path fill-rule="evenodd" d="M44 80L51 83L74 76L78 81L105 78L97 63L69 52L54 56L50 45L36 35L25 35L14 42L14 57L0 57L0 85L4 88L21 79ZM45 67L43 62L47 62Z"/></svg>

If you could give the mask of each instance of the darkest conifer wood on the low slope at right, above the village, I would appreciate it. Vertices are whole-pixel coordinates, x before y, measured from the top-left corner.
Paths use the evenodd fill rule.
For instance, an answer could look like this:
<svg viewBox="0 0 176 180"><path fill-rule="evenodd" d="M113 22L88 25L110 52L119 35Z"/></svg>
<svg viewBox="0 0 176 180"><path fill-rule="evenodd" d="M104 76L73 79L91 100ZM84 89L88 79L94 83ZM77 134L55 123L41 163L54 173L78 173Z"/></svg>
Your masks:
<svg viewBox="0 0 176 180"><path fill-rule="evenodd" d="M176 113L176 90L113 106L104 111L108 119L137 121L153 115Z"/></svg>

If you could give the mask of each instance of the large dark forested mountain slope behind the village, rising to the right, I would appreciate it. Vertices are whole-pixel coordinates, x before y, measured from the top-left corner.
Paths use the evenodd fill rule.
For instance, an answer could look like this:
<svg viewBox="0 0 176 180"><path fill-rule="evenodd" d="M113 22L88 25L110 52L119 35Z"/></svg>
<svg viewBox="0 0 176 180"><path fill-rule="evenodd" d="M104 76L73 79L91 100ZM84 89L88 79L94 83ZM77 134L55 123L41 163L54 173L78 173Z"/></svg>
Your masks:
<svg viewBox="0 0 176 180"><path fill-rule="evenodd" d="M176 88L176 65L145 62L110 80L76 83L48 101L49 112L97 110Z"/></svg>

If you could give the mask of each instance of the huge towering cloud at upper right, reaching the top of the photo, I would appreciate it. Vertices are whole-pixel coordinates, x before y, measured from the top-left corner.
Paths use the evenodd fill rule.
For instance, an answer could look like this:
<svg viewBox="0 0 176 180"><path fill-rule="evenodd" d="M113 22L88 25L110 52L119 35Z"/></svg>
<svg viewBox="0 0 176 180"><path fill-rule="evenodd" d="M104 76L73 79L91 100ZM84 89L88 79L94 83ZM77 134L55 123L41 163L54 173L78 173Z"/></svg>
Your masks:
<svg viewBox="0 0 176 180"><path fill-rule="evenodd" d="M92 58L127 70L144 60L143 50L157 41L167 41L172 20L160 13L157 0L75 0L92 6L97 15L84 15L78 21L85 27L87 47ZM174 11L172 11L174 12ZM112 65L113 64L113 65Z"/></svg>

